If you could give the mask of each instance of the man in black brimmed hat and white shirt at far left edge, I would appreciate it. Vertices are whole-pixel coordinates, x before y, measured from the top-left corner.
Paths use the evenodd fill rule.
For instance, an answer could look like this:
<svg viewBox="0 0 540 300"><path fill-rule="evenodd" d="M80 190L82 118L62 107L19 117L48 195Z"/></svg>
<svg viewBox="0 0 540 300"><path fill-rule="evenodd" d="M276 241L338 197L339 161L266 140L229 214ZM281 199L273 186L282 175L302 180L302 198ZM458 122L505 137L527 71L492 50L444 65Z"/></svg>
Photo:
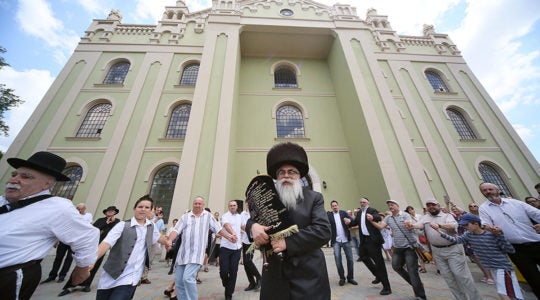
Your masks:
<svg viewBox="0 0 540 300"><path fill-rule="evenodd" d="M98 230L81 218L69 199L51 195L66 161L50 152L28 160L8 158L15 168L0 197L0 291L3 299L30 299L41 279L41 260L59 240L73 250L73 282L89 275L97 258Z"/></svg>

